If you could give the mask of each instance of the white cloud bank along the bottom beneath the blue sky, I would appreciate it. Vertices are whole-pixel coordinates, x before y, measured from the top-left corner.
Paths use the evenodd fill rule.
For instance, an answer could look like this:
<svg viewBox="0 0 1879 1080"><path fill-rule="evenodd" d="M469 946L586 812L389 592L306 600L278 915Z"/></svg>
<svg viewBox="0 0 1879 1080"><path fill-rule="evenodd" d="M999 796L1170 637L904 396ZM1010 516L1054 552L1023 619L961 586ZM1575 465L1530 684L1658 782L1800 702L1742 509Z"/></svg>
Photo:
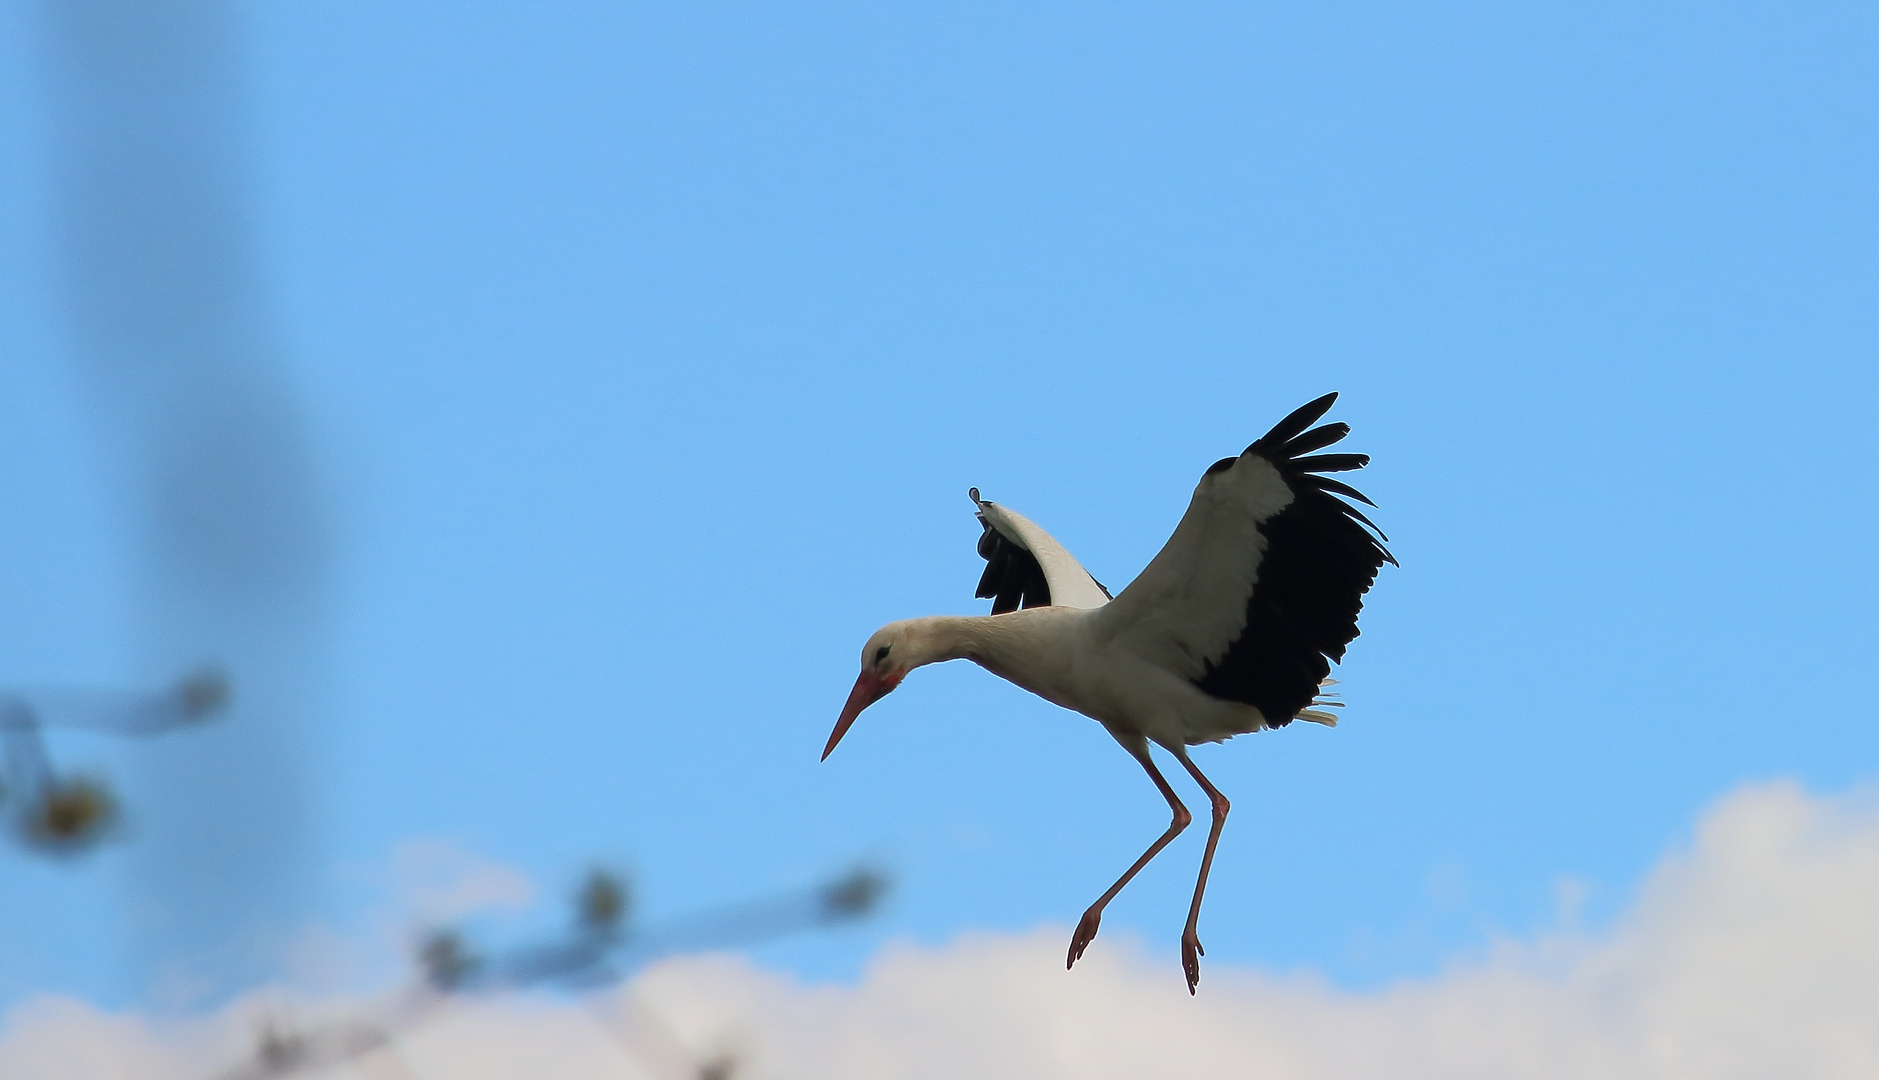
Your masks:
<svg viewBox="0 0 1879 1080"><path fill-rule="evenodd" d="M752 1080L1871 1078L1875 911L1879 806L1770 783L1717 804L1612 930L1501 943L1379 992L1212 964L1188 997L1126 937L1065 973L1067 930L1048 928L891 947L857 986L673 960L586 1005L464 1005L402 1039L396 1067L329 1076L661 1078L731 1054ZM254 1016L246 1001L165 1027L38 999L0 1033L0 1076L203 1076Z"/></svg>

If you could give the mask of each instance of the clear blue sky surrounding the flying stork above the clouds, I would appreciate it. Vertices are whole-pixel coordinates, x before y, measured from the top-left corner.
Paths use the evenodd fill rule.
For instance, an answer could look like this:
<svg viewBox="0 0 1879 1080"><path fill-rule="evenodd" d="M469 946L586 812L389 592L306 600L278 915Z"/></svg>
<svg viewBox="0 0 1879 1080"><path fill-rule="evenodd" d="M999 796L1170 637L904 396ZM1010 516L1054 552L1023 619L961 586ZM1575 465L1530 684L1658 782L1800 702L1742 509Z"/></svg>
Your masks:
<svg viewBox="0 0 1879 1080"><path fill-rule="evenodd" d="M0 678L124 684L32 26L0 23ZM338 552L325 918L449 838L551 896L622 860L648 917L894 866L868 928L759 954L810 977L1067 928L1161 828L1154 789L966 665L817 764L857 650L981 609L970 485L1114 588L1208 462L1330 389L1404 565L1342 727L1197 753L1235 800L1210 962L1428 971L1554 920L1561 877L1614 911L1746 779L1870 779L1875 30L256 8L254 225ZM126 994L124 858L0 853L0 999ZM1197 858L1105 932L1172 965Z"/></svg>

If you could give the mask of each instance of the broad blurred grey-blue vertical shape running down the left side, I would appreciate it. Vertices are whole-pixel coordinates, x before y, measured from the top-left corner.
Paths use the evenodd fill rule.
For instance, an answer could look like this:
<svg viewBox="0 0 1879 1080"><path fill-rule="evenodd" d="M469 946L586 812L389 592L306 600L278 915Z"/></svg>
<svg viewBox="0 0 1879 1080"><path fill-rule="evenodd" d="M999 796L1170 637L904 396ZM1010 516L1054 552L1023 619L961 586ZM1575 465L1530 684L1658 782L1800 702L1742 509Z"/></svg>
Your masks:
<svg viewBox="0 0 1879 1080"><path fill-rule="evenodd" d="M139 988L276 971L314 911L325 522L280 372L246 171L237 6L39 0L71 355L128 494L147 674L220 663L227 723L137 749Z"/></svg>

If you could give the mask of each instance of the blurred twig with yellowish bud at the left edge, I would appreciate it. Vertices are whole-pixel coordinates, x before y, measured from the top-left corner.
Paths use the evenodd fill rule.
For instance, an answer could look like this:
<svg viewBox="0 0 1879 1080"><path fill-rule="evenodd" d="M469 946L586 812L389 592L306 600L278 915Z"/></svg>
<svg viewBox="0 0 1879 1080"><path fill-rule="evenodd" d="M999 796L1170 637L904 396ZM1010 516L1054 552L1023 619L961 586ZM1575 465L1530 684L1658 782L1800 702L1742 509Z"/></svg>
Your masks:
<svg viewBox="0 0 1879 1080"><path fill-rule="evenodd" d="M0 691L0 813L15 836L43 855L79 855L101 841L118 798L101 776L68 776L45 749L47 727L147 736L212 717L227 702L222 672L205 671L169 693L88 689Z"/></svg>

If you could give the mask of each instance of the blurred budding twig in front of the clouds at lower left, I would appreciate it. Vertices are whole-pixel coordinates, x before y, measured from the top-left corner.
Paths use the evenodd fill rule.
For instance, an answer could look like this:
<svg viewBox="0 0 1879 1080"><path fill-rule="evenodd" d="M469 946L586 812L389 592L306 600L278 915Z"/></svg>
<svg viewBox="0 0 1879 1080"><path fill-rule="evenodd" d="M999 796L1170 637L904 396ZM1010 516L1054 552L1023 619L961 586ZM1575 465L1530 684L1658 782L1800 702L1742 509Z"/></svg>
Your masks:
<svg viewBox="0 0 1879 1080"><path fill-rule="evenodd" d="M620 873L594 870L575 892L573 924L566 933L483 952L457 928L432 928L417 943L419 979L381 1009L308 1027L276 1018L257 1033L254 1056L218 1080L278 1080L351 1061L370 1063L372 1074L419 1080L398 1057L398 1039L470 995L588 994L622 982L661 956L759 945L866 918L887 888L885 873L861 866L810 890L703 911L639 932L631 926L631 883ZM737 1074L735 1054L688 1046L652 1003L633 994L605 1003L588 994L586 1001L599 1029L648 1074L669 1080L731 1080Z"/></svg>

